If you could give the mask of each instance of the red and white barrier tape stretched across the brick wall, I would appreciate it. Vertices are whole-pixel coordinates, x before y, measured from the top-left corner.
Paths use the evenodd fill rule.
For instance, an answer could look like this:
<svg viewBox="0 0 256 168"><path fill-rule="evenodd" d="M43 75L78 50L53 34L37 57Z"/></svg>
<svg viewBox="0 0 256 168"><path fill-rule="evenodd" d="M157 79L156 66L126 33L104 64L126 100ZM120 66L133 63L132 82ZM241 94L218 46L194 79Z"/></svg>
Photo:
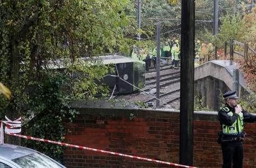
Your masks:
<svg viewBox="0 0 256 168"><path fill-rule="evenodd" d="M7 117L6 117L7 118ZM21 118L20 118L21 119ZM151 161L151 162L156 162L156 163L160 163L160 164L166 164L166 165L172 165L172 166L179 166L179 167L188 167L188 168L197 168L197 167L193 167L193 166L185 166L185 165L180 165L180 164L174 164L174 163L171 163L171 162L165 162L165 161L159 161L159 160L153 160L153 159L150 159L150 158L145 158L145 157L138 157L138 156L132 156L132 155L125 155L125 154L122 154L122 153L116 153L116 152L109 152L109 151L104 151L104 150L97 150L97 149L94 149L94 148L89 148L89 147L83 147L83 146L77 146L77 145L74 145L74 144L68 144L68 143L62 143L62 142L57 142L57 141L50 141L50 140L47 140L47 139L40 139L40 138L34 138L34 137L29 137L29 136L22 136L20 134L16 134L18 133L17 130L15 128L18 128L18 127L21 127L21 124L19 123L19 120L20 119L17 119L15 121L11 121L9 119L8 122L3 122L2 123L8 123L8 125L10 125L12 127L11 128L8 128L7 131L4 131L4 133L6 134L10 134L12 136L17 136L17 137L21 137L21 138L26 138L26 139L32 139L32 140L35 140L35 141L42 141L42 142L47 142L47 143L54 143L54 144L60 144L62 146L67 146L67 147L75 147L75 148L81 148L81 149L84 149L84 150L89 150L89 151L95 151L95 152L101 152L101 153L108 153L108 154L111 154L111 155L117 155L117 156L123 156L123 157L130 157L130 158L136 158L138 160L145 160L145 161ZM1 121L0 121L1 122ZM17 123L18 122L18 123ZM12 123L12 124L10 124ZM14 124L14 125L13 125ZM1 129L2 129L2 125L1 125ZM5 127L6 129L6 127ZM13 131L11 131L13 130ZM0 130L0 134L1 134L1 131ZM1 136L2 137L2 136ZM3 142L2 142L3 143Z"/></svg>

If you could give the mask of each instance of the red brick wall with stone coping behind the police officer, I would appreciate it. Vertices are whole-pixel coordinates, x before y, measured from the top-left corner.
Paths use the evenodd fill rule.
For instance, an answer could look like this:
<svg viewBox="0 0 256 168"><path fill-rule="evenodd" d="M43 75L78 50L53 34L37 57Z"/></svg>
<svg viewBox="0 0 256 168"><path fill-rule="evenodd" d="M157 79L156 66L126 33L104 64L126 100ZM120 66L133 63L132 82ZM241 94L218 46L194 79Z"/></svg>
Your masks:
<svg viewBox="0 0 256 168"><path fill-rule="evenodd" d="M179 113L177 111L143 109L95 109L76 104L80 111L73 123L64 119L70 130L65 142L151 158L179 164ZM131 118L134 114L136 118ZM245 124L248 134L244 142L244 167L256 167L256 125ZM221 147L216 142L220 124L215 112L194 114L195 167L221 167ZM64 153L67 167L173 167L134 158L67 147Z"/></svg>

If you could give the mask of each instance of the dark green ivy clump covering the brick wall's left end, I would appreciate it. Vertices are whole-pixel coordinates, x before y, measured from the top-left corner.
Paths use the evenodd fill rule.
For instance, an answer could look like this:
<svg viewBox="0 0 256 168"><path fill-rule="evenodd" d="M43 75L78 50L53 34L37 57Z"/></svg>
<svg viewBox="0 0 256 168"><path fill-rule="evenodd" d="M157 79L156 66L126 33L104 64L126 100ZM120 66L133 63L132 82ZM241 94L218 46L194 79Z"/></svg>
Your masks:
<svg viewBox="0 0 256 168"><path fill-rule="evenodd" d="M70 85L67 83L66 77L62 73L48 73L43 82L31 82L30 84L31 97L25 109L29 113L24 111L23 114L26 135L63 142L66 132L62 118L69 118L72 122L72 118L75 118L78 114L76 111L69 109L68 103L71 100L67 99L69 97L67 90ZM41 118L31 125L30 119L33 116L41 116ZM30 139L24 139L22 144L62 162L63 146L31 141Z"/></svg>

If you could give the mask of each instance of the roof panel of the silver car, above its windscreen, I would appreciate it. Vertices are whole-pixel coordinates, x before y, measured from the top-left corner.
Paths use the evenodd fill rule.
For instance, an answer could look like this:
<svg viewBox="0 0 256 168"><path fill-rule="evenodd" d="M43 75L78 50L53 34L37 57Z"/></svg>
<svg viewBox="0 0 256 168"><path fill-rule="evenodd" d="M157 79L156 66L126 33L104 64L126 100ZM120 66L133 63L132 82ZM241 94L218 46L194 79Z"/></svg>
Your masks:
<svg viewBox="0 0 256 168"><path fill-rule="evenodd" d="M14 144L0 143L0 157L6 157L13 160L18 157L30 155L31 153L36 153L36 151Z"/></svg>

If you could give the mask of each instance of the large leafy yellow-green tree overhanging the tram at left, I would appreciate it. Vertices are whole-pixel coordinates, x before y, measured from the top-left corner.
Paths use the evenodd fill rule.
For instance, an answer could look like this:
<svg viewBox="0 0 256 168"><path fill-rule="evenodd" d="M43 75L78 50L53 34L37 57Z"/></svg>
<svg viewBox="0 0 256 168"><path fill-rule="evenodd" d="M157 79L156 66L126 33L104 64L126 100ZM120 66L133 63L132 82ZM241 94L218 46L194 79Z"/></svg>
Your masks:
<svg viewBox="0 0 256 168"><path fill-rule="evenodd" d="M40 113L50 113L58 119L60 114L73 116L73 111L68 109L68 101L104 92L106 88L96 87L94 80L102 78L108 67L102 64L92 67L86 63L72 66L72 63L80 57L88 57L92 61L97 55L128 50L133 40L125 38L125 35L135 29L134 21L125 15L125 11L130 10L130 3L129 0L1 1L0 78L12 91L11 101L0 97L1 113L10 119L22 115L24 123L32 128L34 124L29 121L33 116L38 116L35 118L37 122L49 116ZM58 72L49 71L49 63L56 63L56 59L71 65L64 71L67 76L79 71L86 77L73 80L66 76L68 85L64 85L66 82L62 82ZM44 87L49 83L55 87ZM35 92L37 96L33 94ZM56 95L44 97L45 92ZM57 108L48 111L45 99L48 99L48 105L61 106L61 111L52 111ZM66 111L64 105L67 106ZM57 123L60 124L61 120ZM6 140L20 142L13 137Z"/></svg>

